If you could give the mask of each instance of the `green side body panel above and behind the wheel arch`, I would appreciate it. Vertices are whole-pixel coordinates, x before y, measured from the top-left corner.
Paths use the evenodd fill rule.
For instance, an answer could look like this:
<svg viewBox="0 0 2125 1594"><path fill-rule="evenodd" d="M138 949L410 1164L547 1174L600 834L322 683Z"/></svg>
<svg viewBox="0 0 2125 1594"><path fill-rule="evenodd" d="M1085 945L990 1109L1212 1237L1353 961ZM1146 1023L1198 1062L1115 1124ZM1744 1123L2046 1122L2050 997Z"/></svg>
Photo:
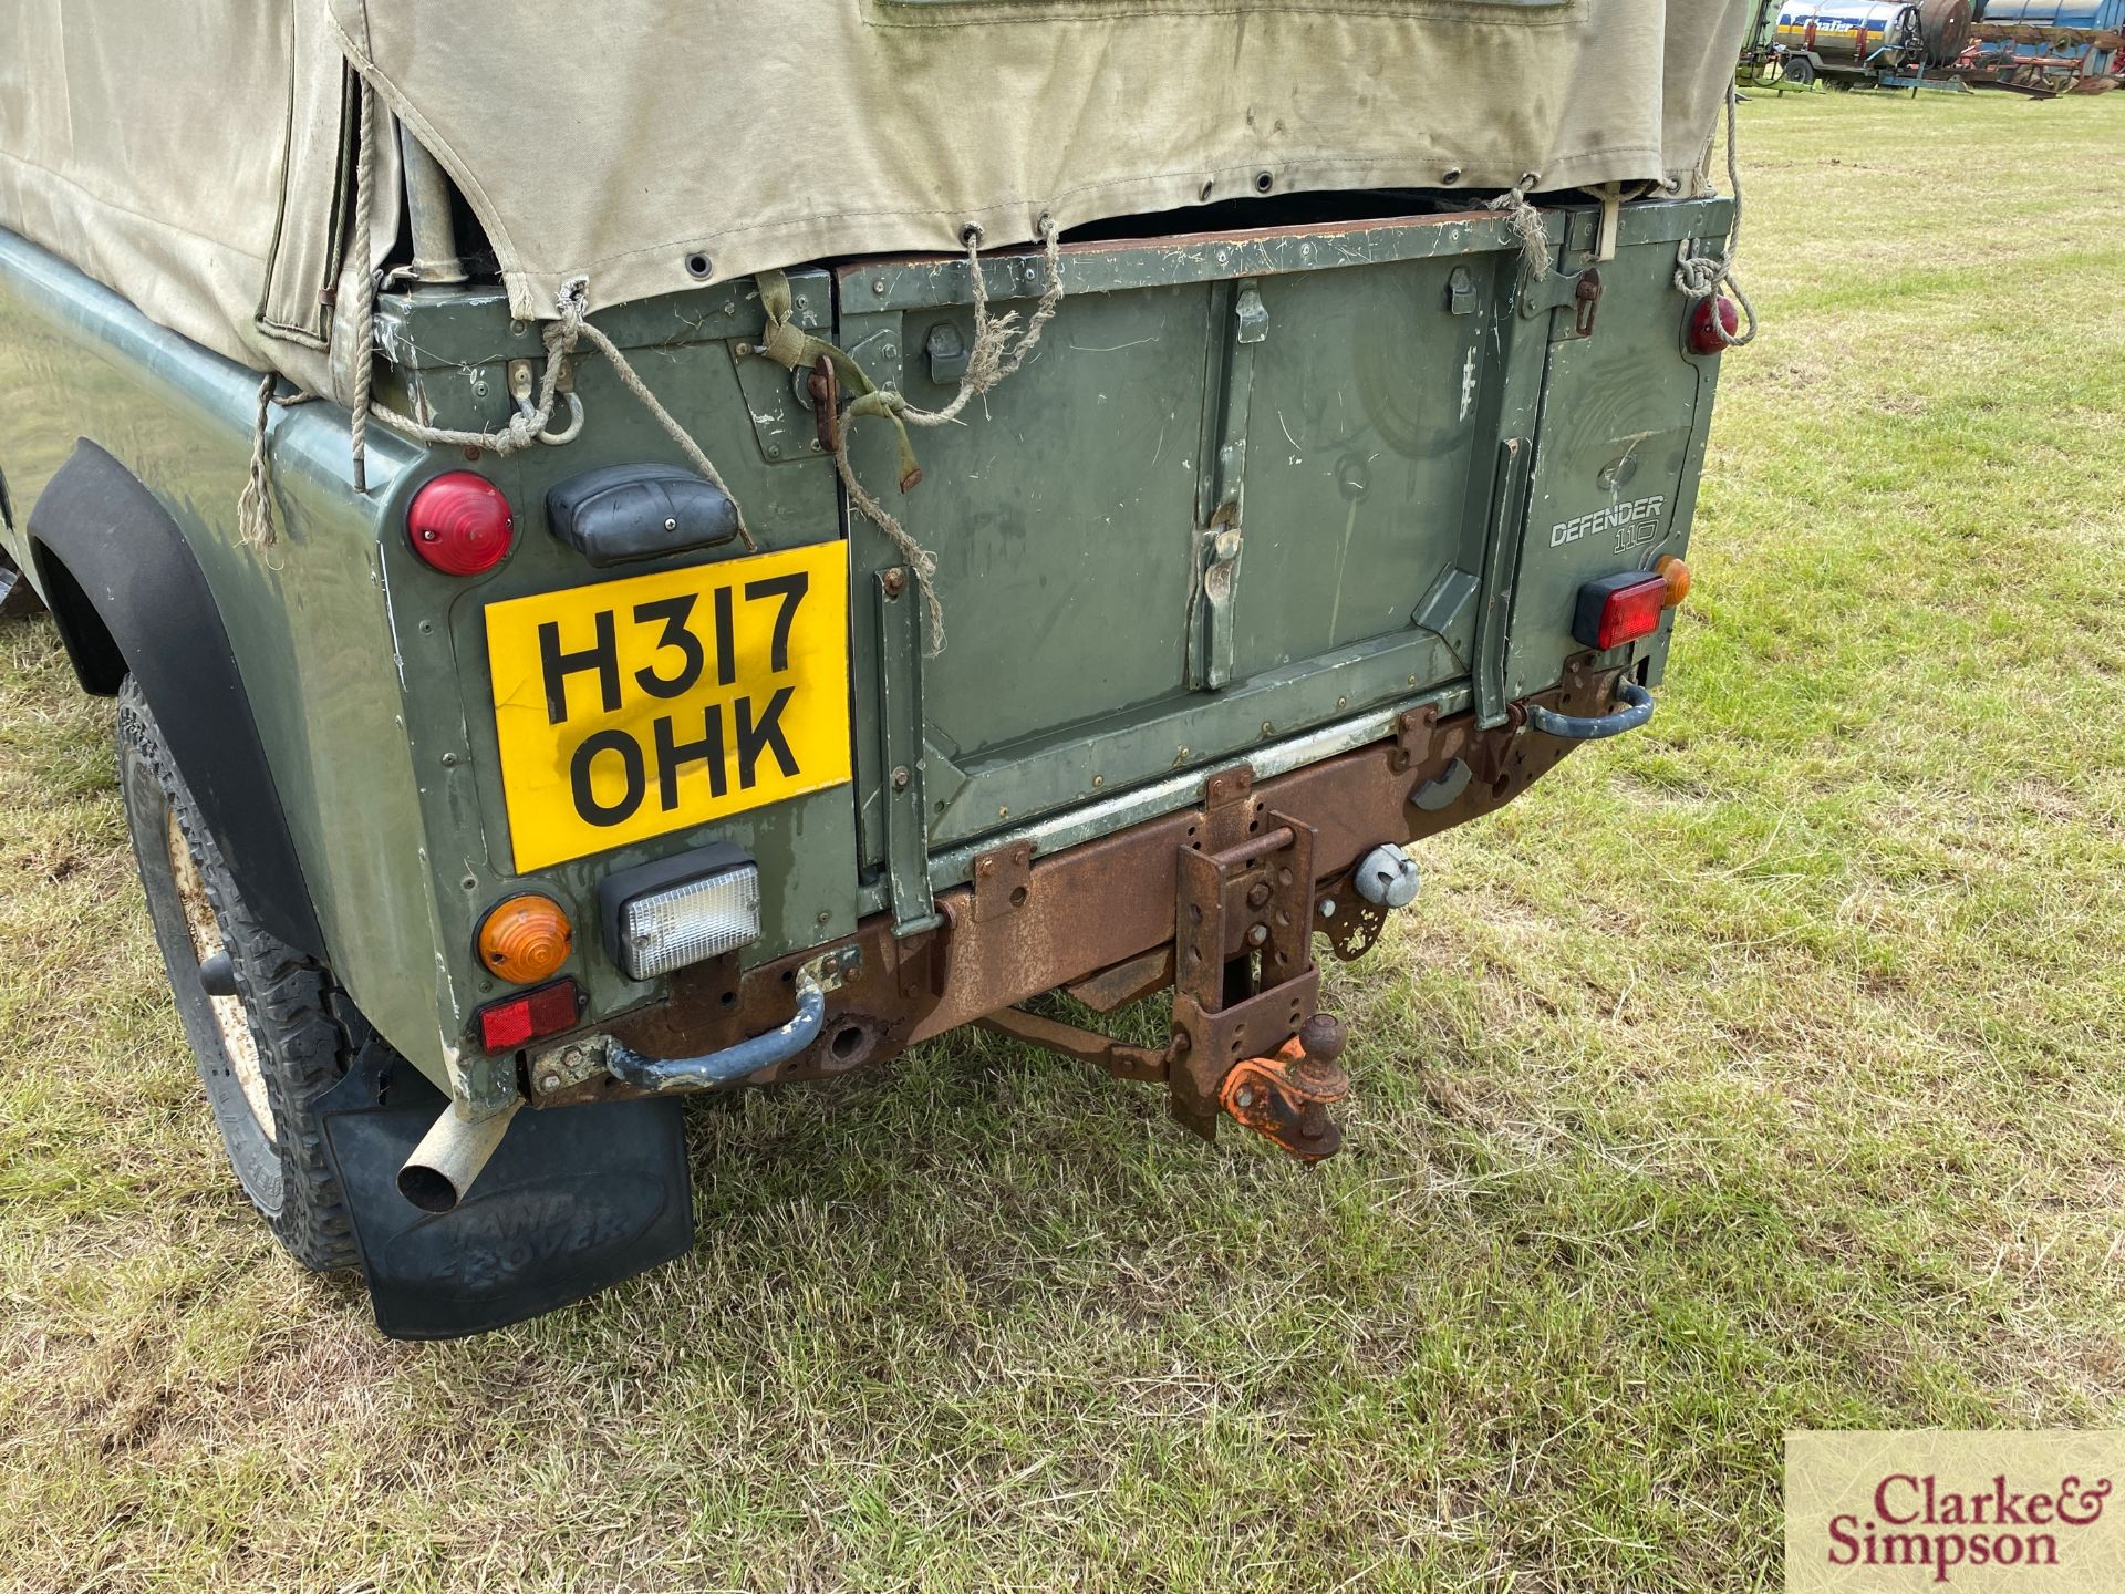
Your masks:
<svg viewBox="0 0 2125 1594"><path fill-rule="evenodd" d="M176 521L221 606L272 761L319 927L355 1001L423 1071L444 1078L448 993L414 750L374 531L348 487L346 417L310 404L274 419L283 542L234 536L257 378L149 325L0 232L0 468L26 557L30 506L91 438ZM374 502L416 451L380 438Z"/></svg>

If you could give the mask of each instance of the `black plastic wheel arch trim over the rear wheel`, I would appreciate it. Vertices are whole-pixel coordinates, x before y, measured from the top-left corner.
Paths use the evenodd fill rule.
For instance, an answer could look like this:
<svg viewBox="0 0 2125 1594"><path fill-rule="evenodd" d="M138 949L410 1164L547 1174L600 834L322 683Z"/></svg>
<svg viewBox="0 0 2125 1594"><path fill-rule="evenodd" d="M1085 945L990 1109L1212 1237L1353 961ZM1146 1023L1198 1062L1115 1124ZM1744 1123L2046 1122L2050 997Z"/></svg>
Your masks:
<svg viewBox="0 0 2125 1594"><path fill-rule="evenodd" d="M153 491L87 438L30 508L36 584L81 689L140 682L170 757L259 922L325 956L317 910L230 646L185 533Z"/></svg>

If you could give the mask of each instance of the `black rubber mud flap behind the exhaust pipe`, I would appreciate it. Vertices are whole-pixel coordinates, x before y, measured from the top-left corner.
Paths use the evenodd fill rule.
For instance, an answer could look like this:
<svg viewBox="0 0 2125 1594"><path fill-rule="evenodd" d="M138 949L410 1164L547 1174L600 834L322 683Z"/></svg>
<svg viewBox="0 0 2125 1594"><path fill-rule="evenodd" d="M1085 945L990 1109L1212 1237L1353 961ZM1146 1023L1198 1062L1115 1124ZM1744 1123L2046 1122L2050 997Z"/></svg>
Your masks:
<svg viewBox="0 0 2125 1594"><path fill-rule="evenodd" d="M391 1339L523 1322L693 1245L676 1099L521 1112L472 1194L429 1214L397 1192L397 1171L444 1105L387 1056L357 1061L319 1107L376 1326Z"/></svg>

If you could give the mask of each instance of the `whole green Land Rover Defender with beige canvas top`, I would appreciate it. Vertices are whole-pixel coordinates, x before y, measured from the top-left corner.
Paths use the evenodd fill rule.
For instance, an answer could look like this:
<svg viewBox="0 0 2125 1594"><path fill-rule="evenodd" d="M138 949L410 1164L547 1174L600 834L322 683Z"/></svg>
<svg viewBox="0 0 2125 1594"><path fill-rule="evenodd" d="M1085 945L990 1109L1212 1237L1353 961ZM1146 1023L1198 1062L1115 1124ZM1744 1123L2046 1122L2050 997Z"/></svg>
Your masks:
<svg viewBox="0 0 2125 1594"><path fill-rule="evenodd" d="M0 0L0 536L251 1201L472 1333L975 1022L1332 1154L1318 954L1653 712L1745 9L489 13Z"/></svg>

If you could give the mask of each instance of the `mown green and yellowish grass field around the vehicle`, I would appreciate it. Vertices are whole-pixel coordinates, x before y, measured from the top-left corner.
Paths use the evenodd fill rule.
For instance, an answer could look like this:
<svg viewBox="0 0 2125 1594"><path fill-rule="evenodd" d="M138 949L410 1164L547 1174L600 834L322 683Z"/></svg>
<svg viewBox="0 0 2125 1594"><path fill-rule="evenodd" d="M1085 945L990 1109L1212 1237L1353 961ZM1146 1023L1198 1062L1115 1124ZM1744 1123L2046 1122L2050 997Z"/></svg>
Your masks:
<svg viewBox="0 0 2125 1594"><path fill-rule="evenodd" d="M212 1137L0 627L0 1588L1776 1588L1796 1426L2125 1426L2125 94L1742 108L1660 718L1428 844L1352 1150L954 1037L695 1254L376 1339Z"/></svg>

